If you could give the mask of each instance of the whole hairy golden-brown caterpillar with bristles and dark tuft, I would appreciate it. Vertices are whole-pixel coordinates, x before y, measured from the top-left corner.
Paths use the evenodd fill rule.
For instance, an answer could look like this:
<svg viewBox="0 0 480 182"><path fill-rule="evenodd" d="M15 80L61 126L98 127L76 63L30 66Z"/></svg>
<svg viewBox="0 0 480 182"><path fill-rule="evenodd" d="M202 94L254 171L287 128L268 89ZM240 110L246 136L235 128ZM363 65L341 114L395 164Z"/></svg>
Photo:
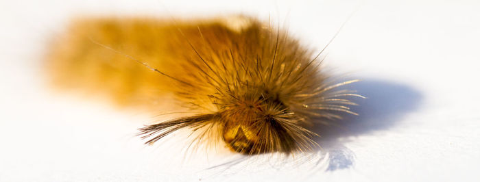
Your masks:
<svg viewBox="0 0 480 182"><path fill-rule="evenodd" d="M147 109L174 93L199 113L141 128L147 144L189 128L200 131L195 140L223 140L232 151L254 155L309 151L312 136L321 135L309 126L341 118L335 112L355 114L345 96L360 95L332 90L357 80L328 82L320 53L245 16L84 18L53 45L47 66L57 86Z"/></svg>

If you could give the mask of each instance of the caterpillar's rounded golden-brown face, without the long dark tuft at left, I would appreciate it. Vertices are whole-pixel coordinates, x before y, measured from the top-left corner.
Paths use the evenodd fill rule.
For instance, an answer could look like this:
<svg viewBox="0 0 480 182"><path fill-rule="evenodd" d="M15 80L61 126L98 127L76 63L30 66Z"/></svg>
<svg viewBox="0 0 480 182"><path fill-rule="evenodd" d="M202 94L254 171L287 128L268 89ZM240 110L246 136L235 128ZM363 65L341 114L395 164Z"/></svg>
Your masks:
<svg viewBox="0 0 480 182"><path fill-rule="evenodd" d="M248 155L290 153L314 144L309 140L314 134L299 125L304 118L292 112L278 94L232 97L236 99L227 99L230 103L224 103L219 114L222 138L232 151Z"/></svg>

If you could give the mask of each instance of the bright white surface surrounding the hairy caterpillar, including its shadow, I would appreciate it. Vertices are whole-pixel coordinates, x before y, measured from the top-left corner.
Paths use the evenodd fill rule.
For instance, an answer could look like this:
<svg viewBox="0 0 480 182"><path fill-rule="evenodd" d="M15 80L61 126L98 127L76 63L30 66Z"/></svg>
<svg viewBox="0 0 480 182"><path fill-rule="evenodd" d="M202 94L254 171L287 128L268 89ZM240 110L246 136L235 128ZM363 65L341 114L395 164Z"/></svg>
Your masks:
<svg viewBox="0 0 480 182"><path fill-rule="evenodd" d="M134 134L149 116L49 94L40 79L49 36L81 12L270 12L320 49L357 7L325 63L361 77L352 88L370 99L348 132L324 142L330 157L318 165L264 157L205 170L238 156L183 155L174 137L143 146ZM0 181L478 181L479 10L478 1L3 0Z"/></svg>

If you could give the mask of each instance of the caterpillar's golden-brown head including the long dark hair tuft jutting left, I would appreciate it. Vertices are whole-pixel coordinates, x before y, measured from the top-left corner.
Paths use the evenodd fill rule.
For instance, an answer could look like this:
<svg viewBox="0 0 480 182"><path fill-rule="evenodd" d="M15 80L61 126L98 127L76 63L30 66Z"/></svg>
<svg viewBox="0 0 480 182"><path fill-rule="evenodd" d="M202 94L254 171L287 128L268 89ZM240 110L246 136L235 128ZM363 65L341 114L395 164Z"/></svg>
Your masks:
<svg viewBox="0 0 480 182"><path fill-rule="evenodd" d="M237 93L241 93L238 92ZM207 128L220 134L231 151L245 155L261 153L291 153L308 151L315 145L311 137L315 135L302 127L304 116L282 101L278 94L272 92L248 92L235 97L214 101L219 107L215 114L204 114L179 118L149 125L141 129L143 138L151 138L152 144L165 135L189 127L193 130ZM216 127L207 127L216 126ZM205 135L204 132L202 135ZM211 142L211 141L209 141Z"/></svg>

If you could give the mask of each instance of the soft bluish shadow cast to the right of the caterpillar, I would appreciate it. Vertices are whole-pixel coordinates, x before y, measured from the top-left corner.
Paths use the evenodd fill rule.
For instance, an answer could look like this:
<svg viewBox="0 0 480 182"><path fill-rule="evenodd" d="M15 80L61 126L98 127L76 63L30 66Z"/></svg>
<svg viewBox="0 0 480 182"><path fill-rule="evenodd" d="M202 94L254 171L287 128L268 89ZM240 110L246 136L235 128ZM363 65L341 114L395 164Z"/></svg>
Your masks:
<svg viewBox="0 0 480 182"><path fill-rule="evenodd" d="M319 153L327 158L327 171L350 168L355 164L355 153L345 146L349 137L372 134L396 127L409 112L418 109L422 94L410 86L392 81L364 79L340 89L357 90L367 99L352 99L359 106L352 107L359 116L344 115L334 125L312 129L321 135L315 141L322 148Z"/></svg>

